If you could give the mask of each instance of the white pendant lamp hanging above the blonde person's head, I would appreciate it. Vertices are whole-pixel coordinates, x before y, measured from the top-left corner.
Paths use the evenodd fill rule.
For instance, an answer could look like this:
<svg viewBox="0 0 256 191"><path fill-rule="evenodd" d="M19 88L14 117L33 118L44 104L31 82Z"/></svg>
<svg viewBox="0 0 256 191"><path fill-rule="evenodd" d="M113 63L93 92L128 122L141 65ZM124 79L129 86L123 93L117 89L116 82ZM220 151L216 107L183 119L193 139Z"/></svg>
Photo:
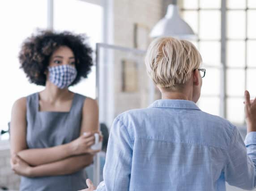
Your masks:
<svg viewBox="0 0 256 191"><path fill-rule="evenodd" d="M169 4L163 17L151 30L150 37L172 36L179 39L195 39L196 35L191 27L179 16L176 4Z"/></svg>

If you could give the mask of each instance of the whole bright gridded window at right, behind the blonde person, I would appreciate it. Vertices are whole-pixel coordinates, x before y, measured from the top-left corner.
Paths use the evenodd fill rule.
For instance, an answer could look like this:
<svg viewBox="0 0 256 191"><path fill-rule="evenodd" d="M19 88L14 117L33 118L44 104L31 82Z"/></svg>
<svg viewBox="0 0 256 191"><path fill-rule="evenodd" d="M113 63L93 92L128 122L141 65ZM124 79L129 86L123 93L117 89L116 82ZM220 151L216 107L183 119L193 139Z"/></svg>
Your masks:
<svg viewBox="0 0 256 191"><path fill-rule="evenodd" d="M244 90L249 90L252 98L256 96L255 0L180 0L179 5L184 20L198 34L194 43L207 68L199 106L243 125Z"/></svg>

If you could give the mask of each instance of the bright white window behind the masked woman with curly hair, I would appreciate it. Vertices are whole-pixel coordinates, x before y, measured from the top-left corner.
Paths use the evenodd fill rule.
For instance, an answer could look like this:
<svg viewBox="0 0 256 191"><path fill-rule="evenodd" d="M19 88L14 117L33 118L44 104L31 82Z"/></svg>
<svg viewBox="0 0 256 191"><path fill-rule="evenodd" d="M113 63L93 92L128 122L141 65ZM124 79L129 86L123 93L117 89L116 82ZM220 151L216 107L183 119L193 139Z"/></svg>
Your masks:
<svg viewBox="0 0 256 191"><path fill-rule="evenodd" d="M18 53L21 43L37 28L46 29L47 14L50 11L47 0L5 0L0 1L1 35L0 52L2 62L0 130L8 130L11 109L15 100L43 90L42 86L30 84L24 72L19 69ZM87 33L90 45L102 39L102 6L84 0L54 0L53 29ZM15 16L14 16L15 15ZM2 19L7 18L8 19ZM95 67L88 79L83 80L72 91L95 98ZM6 140L5 133L0 139Z"/></svg>

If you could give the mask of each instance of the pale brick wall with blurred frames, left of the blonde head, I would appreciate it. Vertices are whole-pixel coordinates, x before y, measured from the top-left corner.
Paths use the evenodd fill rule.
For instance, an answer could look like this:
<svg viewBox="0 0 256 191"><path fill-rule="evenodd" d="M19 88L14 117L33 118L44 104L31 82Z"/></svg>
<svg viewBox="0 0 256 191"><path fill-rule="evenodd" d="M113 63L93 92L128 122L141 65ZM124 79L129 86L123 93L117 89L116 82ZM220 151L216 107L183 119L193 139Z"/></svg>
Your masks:
<svg viewBox="0 0 256 191"><path fill-rule="evenodd" d="M152 40L149 37L150 30L162 18L163 10L162 0L114 0L114 44L146 50L147 45ZM144 32L143 36L137 36L137 47L135 47L136 44L134 43L135 25L138 25L138 30ZM140 42L147 45L141 46ZM149 78L145 71L143 56L122 51L115 51L113 56L115 60L115 75L113 75L113 82L115 82L115 93L113 95L115 100L114 116L129 109L147 107L149 105ZM122 75L124 75L121 65L122 60L134 60L137 63L138 91L136 92L122 91L121 82ZM159 99L159 96L156 99Z"/></svg>

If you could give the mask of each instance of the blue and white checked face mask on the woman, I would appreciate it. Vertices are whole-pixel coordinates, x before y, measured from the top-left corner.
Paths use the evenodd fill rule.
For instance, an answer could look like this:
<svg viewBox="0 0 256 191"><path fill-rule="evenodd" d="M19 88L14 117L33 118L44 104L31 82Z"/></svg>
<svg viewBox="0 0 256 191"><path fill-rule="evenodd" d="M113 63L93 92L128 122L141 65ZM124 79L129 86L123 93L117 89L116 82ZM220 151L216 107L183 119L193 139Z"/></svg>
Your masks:
<svg viewBox="0 0 256 191"><path fill-rule="evenodd" d="M77 77L77 70L74 66L60 65L48 67L49 80L60 89L68 87Z"/></svg>

